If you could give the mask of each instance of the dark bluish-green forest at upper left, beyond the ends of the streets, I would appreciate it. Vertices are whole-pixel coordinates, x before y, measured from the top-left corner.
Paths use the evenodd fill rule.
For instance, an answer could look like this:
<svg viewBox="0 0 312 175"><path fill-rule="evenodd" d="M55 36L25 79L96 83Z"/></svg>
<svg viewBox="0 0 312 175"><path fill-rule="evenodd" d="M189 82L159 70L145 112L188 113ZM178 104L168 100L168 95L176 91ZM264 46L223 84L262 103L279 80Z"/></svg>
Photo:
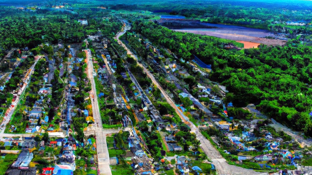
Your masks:
<svg viewBox="0 0 312 175"><path fill-rule="evenodd" d="M8 8L0 8L8 11ZM14 11L14 10L13 10ZM103 20L98 17L88 19L88 25L78 22L80 16L46 12L39 16L31 16L27 12L6 16L0 19L0 57L12 47L34 48L41 43L57 44L59 40L64 43L80 43L87 35L94 35L100 31L103 35L113 37L121 29L122 23L114 17ZM51 14L52 13L52 14Z"/></svg>

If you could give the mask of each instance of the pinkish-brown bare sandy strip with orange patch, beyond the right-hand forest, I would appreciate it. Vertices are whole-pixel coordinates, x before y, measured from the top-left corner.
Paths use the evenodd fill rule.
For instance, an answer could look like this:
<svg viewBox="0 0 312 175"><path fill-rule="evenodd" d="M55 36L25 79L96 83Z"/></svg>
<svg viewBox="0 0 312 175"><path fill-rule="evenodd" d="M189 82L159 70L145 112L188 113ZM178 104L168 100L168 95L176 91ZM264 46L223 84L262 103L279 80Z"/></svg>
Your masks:
<svg viewBox="0 0 312 175"><path fill-rule="evenodd" d="M208 36L216 36L219 38L229 39L229 40L236 40L236 41L247 41L250 43L246 43L247 48L255 47L259 45L258 43L265 44L265 45L285 45L287 42L286 40L280 40L280 39L267 39L267 38L261 38L261 37L255 37L255 36L248 36L248 35L238 35L238 34L231 34L231 33L220 33L216 31L198 31L198 30L174 30L174 31L180 31L180 32L187 32L187 33L195 33L199 35L208 35ZM245 44L245 43L244 43ZM246 46L245 46L246 48ZM255 47L256 48L256 47Z"/></svg>

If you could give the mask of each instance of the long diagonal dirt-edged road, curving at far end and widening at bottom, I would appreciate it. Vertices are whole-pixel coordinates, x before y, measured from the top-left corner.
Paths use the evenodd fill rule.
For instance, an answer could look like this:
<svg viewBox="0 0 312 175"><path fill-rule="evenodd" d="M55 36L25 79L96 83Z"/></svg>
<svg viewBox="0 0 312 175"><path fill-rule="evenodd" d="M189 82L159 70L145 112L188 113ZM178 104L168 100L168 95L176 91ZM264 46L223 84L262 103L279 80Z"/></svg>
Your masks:
<svg viewBox="0 0 312 175"><path fill-rule="evenodd" d="M129 54L131 57L137 60L137 56L134 55L120 40L119 36L123 35L126 30L119 32L116 35L116 39L118 43L124 47L124 49L127 51L127 54ZM245 169L241 167L237 167L234 165L229 165L224 158L222 158L221 154L215 149L209 140L207 140L198 130L198 128L189 121L188 117L186 117L175 105L174 101L168 96L168 94L163 90L163 88L159 85L159 83L154 78L154 75L150 73L142 64L138 62L138 65L143 68L143 71L147 74L147 76L152 80L152 82L158 87L160 92L165 97L166 101L175 109L177 114L180 116L180 118L183 121L187 121L190 124L191 132L195 133L197 136L197 139L201 142L201 148L205 152L205 154L212 160L213 164L217 168L218 174L231 174L231 175L238 175L238 174L246 174L246 175L255 175L255 174L268 174L268 173L258 173L250 169Z"/></svg>

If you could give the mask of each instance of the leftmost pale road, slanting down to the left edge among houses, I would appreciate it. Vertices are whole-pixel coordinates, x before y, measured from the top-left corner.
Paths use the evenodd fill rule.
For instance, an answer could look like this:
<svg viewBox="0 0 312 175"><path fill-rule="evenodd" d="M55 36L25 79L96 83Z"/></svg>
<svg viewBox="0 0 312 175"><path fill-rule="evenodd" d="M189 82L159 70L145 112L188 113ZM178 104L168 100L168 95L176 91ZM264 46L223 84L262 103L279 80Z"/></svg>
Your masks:
<svg viewBox="0 0 312 175"><path fill-rule="evenodd" d="M9 123L9 121L11 120L11 117L12 117L12 114L13 114L13 112L15 111L15 107L18 105L18 103L19 103L19 100L20 100L20 95L25 91L25 89L26 89L26 87L27 87L27 85L28 85L28 83L29 83L29 81L30 81L30 78L31 78L31 76L32 76L32 74L34 73L34 68L35 68L35 66L36 66L36 64L37 64L37 62L38 62L38 60L39 59L37 59L36 61L35 61L35 63L34 64L32 64L32 66L28 69L28 70L30 70L30 72L29 72L29 74L27 75L27 77L25 77L25 81L23 82L24 83L24 85L23 85L23 87L22 88L20 88L19 89L19 91L17 92L17 97L16 97L16 99L15 99L15 102L12 102L12 105L14 105L13 107L10 107L8 110L7 110L7 112L6 112L6 114L5 114L5 116L4 116L4 118L3 118L3 121L2 121L2 123L1 123L1 131L0 131L0 133L4 133L4 130L5 130L5 128L6 128L6 126L7 126L7 124ZM26 76L26 75L25 75Z"/></svg>

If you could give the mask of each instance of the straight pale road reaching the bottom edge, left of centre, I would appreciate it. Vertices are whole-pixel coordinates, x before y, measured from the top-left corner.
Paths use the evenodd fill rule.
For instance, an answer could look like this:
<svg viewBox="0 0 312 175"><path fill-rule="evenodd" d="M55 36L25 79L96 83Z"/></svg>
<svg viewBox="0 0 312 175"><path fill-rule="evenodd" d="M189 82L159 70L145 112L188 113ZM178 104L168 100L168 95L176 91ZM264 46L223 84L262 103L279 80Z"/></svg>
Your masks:
<svg viewBox="0 0 312 175"><path fill-rule="evenodd" d="M93 63L92 63L92 56L90 50L85 50L87 60L88 60L88 78L91 81L91 88L90 91L91 95L91 103L92 103L92 111L93 111L93 118L95 121L95 127L96 129L96 150L97 150L97 156L98 156L98 166L100 170L100 174L105 175L112 175L112 172L110 170L110 156L107 149L107 143L106 143L106 135L103 133L103 125L102 120L100 117L100 108L99 103L97 101L97 95L96 95L96 88L95 88L95 82L94 77L92 75L93 72Z"/></svg>

